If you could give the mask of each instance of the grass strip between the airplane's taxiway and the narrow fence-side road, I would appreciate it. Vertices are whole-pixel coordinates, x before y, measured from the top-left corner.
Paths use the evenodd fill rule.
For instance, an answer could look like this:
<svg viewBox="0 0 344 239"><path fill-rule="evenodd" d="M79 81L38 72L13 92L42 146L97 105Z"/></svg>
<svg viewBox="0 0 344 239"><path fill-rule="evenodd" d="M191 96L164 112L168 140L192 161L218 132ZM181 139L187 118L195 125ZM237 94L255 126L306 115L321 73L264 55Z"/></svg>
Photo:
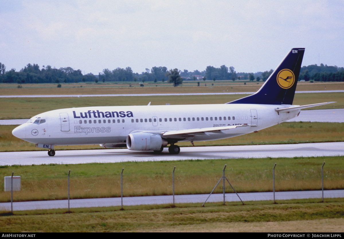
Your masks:
<svg viewBox="0 0 344 239"><path fill-rule="evenodd" d="M260 159L212 159L161 162L92 163L72 165L1 166L0 177L12 171L21 176L22 188L14 201L56 200L67 197L67 175L71 169L71 198L109 198L121 195L120 173L123 171L123 195L172 195L172 170L175 169L176 194L209 193L222 177L237 192L272 191L272 168L277 163L276 190L320 190L321 166L324 188L344 188L343 157L295 157ZM3 181L0 187L4 187ZM227 192L233 192L226 184ZM216 193L222 192L218 186ZM0 201L10 201L10 192L0 192Z"/></svg>

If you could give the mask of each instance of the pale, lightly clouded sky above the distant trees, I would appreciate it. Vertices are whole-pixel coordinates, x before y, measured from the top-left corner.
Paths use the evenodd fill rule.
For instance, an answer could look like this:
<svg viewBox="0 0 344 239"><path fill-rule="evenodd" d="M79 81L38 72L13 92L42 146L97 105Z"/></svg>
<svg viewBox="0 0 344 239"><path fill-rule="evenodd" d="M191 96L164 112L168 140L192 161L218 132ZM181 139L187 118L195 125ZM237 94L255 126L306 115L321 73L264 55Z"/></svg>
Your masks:
<svg viewBox="0 0 344 239"><path fill-rule="evenodd" d="M275 69L294 47L302 65L344 67L344 1L0 0L0 62L98 74L131 67Z"/></svg>

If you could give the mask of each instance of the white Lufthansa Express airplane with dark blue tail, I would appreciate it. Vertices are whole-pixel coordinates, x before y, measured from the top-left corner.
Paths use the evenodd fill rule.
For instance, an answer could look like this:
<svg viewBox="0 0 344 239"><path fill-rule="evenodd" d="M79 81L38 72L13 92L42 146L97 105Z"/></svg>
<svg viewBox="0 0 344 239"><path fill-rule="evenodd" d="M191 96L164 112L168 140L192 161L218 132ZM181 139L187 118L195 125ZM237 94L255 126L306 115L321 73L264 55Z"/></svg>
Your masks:
<svg viewBox="0 0 344 239"><path fill-rule="evenodd" d="M32 117L12 134L48 149L100 144L133 151L179 154L178 142L208 141L257 132L297 117L301 109L333 102L292 105L304 48L292 48L254 94L225 104L100 106L57 109Z"/></svg>

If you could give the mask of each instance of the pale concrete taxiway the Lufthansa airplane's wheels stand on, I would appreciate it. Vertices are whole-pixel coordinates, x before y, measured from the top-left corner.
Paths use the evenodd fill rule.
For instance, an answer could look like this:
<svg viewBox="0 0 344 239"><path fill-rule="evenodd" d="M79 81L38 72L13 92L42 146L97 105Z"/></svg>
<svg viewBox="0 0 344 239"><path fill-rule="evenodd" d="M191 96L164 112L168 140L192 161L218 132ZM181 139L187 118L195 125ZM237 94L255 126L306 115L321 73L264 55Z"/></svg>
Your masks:
<svg viewBox="0 0 344 239"><path fill-rule="evenodd" d="M278 157L344 156L344 142L273 144L242 146L181 147L178 155L135 152L128 149L61 150L53 157L47 151L0 152L0 165L85 164L144 162L161 160L219 158L278 158Z"/></svg>

